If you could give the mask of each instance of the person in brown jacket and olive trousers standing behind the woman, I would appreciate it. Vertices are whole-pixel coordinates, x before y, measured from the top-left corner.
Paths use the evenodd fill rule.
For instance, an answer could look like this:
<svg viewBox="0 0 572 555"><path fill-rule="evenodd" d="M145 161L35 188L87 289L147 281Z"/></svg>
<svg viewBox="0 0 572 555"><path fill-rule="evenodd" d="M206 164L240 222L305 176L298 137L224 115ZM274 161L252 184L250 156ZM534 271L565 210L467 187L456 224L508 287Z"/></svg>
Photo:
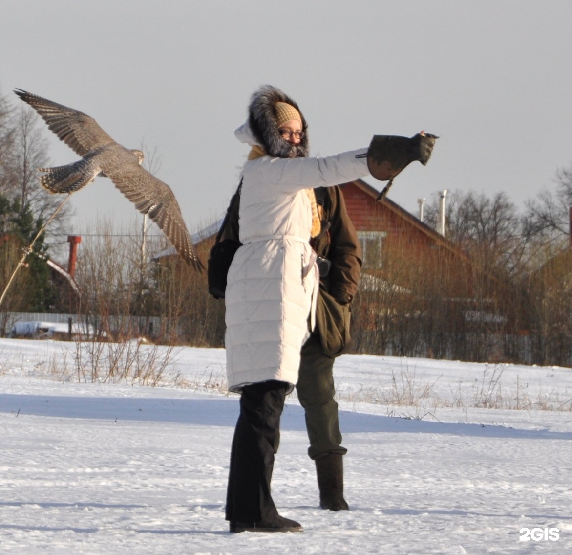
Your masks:
<svg viewBox="0 0 572 555"><path fill-rule="evenodd" d="M315 189L320 234L311 244L319 258L320 290L316 328L301 349L296 389L304 407L310 447L316 462L320 506L347 510L343 495L341 433L333 380L335 357L351 341L351 302L358 289L362 249L339 187Z"/></svg>

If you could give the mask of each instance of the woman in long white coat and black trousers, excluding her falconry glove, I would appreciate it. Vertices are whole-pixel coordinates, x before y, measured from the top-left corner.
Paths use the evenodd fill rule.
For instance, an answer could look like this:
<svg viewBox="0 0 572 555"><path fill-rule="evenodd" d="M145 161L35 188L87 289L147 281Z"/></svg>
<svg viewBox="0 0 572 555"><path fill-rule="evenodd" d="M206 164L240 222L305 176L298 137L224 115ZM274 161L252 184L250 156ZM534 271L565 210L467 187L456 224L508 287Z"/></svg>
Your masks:
<svg viewBox="0 0 572 555"><path fill-rule="evenodd" d="M228 272L225 347L231 391L241 411L231 452L227 520L231 532L301 530L270 494L280 414L312 326L318 273L309 239L320 229L313 188L368 174L367 148L308 158L307 124L280 90L254 93L237 138L244 164L239 228L243 245Z"/></svg>

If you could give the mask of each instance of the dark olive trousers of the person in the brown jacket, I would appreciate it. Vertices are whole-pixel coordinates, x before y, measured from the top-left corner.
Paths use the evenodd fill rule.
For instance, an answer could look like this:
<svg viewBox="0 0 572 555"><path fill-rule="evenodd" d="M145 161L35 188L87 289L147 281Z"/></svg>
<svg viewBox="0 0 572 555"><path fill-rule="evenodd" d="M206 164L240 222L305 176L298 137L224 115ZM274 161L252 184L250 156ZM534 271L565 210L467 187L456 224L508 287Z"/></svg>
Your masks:
<svg viewBox="0 0 572 555"><path fill-rule="evenodd" d="M328 453L345 455L341 446L340 423L337 415L336 390L333 383L335 359L324 355L320 336L312 333L301 350L300 371L296 391L304 407L311 459Z"/></svg>

